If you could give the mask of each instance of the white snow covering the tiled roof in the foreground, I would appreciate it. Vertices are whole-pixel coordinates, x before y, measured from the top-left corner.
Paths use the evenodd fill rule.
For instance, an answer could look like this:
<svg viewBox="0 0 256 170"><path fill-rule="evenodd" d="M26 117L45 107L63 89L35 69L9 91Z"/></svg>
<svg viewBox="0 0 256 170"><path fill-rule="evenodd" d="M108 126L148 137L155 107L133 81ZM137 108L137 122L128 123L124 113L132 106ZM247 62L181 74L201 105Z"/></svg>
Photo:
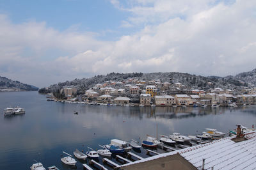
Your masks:
<svg viewBox="0 0 256 170"><path fill-rule="evenodd" d="M203 158L205 159L205 169L211 169L211 167L214 167L214 169L255 169L256 131L250 133L250 135L252 134L255 135L255 138L239 143L231 140L234 137L226 137L211 143L198 144L182 150L162 153L118 167L147 162L179 153L181 157L188 160L197 169L202 169Z"/></svg>

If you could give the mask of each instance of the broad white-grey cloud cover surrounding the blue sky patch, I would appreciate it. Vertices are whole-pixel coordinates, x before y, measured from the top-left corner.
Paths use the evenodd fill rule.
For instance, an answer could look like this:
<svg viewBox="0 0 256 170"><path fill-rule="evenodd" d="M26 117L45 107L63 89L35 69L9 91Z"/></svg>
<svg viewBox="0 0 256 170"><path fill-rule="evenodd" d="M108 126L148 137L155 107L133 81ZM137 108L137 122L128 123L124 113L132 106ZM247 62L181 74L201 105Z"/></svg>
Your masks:
<svg viewBox="0 0 256 170"><path fill-rule="evenodd" d="M56 82L108 72L229 75L255 68L256 1L225 4L213 0L131 0L126 6L122 1L111 3L131 13L122 26L140 25L143 29L106 42L96 40L95 33L60 32L44 22L17 25L1 15L1 72L5 69L10 74L13 69L14 76L21 64L24 73L35 68L43 76L39 72L44 70L54 74ZM33 55L22 56L27 47L41 58L45 50L63 53L38 63ZM15 69L10 66L13 61Z"/></svg>

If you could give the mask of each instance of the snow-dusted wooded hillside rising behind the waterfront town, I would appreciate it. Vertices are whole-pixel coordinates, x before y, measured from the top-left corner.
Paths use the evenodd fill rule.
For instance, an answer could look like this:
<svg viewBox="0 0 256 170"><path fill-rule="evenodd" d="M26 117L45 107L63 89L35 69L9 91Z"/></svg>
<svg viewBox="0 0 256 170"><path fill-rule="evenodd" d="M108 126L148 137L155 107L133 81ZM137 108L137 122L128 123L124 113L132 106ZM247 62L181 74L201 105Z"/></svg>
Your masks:
<svg viewBox="0 0 256 170"><path fill-rule="evenodd" d="M40 93L52 93L63 86L77 86L77 93L83 94L87 89L92 88L95 84L103 84L106 81L126 82L128 79L139 79L143 81L151 81L159 79L161 82L180 82L185 88L189 89L209 89L223 88L240 91L243 86L250 86L250 83L256 82L256 69L252 72L240 73L236 76L229 75L227 77L192 75L189 73L165 72L165 73L108 73L107 75L95 75L94 77L75 79L74 81L59 82L42 88ZM244 82L243 82L244 81ZM250 83L248 83L250 82ZM118 86L115 85L115 88ZM122 88L122 86L120 86Z"/></svg>

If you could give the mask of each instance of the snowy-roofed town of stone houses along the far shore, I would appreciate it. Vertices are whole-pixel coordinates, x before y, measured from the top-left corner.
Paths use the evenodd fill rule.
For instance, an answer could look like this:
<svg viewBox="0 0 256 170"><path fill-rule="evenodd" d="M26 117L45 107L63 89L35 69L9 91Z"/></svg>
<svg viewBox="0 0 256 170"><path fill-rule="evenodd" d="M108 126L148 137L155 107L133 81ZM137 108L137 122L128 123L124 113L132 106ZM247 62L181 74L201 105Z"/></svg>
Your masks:
<svg viewBox="0 0 256 170"><path fill-rule="evenodd" d="M255 104L256 88L241 87L239 91L223 88L202 90L190 89L180 82L162 82L159 79L143 81L131 78L95 84L82 95L77 95L76 86L63 86L58 94L53 94L53 97L63 102L102 105L237 107Z"/></svg>

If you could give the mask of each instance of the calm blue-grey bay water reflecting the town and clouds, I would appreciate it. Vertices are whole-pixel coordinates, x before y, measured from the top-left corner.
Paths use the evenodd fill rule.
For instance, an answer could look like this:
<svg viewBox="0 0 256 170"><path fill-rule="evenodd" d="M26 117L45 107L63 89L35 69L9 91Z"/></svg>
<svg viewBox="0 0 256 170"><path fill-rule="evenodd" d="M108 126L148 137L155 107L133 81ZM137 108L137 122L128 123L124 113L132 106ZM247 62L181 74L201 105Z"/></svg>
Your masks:
<svg viewBox="0 0 256 170"><path fill-rule="evenodd" d="M15 105L24 107L26 114L4 117L3 109ZM72 154L76 148L86 151L87 146L99 149L98 144L114 138L129 141L145 139L146 134L156 136L156 124L158 134L165 135L195 135L205 127L228 132L237 123L256 124L254 105L237 109L107 107L47 102L37 92L0 93L0 111L0 169L29 169L34 159L44 167L69 169L61 164L62 151ZM148 157L145 150L136 154ZM77 169L83 168L82 163L77 162Z"/></svg>

